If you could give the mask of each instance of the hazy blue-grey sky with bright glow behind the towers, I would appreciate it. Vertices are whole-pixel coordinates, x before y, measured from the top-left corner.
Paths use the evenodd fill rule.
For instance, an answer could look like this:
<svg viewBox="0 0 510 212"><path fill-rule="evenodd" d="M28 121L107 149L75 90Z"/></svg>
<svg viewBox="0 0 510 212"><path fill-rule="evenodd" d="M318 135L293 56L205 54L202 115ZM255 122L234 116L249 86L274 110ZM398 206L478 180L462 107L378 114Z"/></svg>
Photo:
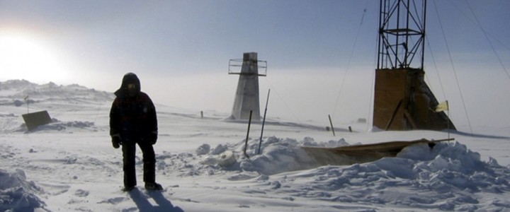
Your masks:
<svg viewBox="0 0 510 212"><path fill-rule="evenodd" d="M378 4L0 0L0 81L113 92L134 72L154 102L229 112L238 80L229 59L258 52L268 63L260 78L262 108L271 88L268 116L370 119ZM506 0L429 1L425 71L459 126L510 119L509 11ZM487 104L499 109L481 112Z"/></svg>

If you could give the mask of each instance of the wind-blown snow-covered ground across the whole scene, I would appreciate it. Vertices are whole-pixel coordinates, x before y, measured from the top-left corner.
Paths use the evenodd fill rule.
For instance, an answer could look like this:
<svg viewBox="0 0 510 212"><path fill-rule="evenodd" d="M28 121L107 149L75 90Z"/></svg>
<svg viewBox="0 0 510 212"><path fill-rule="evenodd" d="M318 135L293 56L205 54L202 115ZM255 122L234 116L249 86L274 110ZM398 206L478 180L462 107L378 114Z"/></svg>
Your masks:
<svg viewBox="0 0 510 212"><path fill-rule="evenodd" d="M52 124L26 131L27 95L30 112L47 110ZM154 146L164 190L143 189L139 151L139 186L121 192L122 154L108 136L112 100L111 93L77 85L0 83L0 211L510 211L509 126L483 129L485 135L453 132L455 141L410 146L397 158L318 166L300 146L448 134L365 132L365 125L351 122L355 132L336 129L334 137L326 124L269 115L260 155L261 124L251 124L248 160L242 153L246 122L164 105L157 105ZM229 151L237 160L223 165Z"/></svg>

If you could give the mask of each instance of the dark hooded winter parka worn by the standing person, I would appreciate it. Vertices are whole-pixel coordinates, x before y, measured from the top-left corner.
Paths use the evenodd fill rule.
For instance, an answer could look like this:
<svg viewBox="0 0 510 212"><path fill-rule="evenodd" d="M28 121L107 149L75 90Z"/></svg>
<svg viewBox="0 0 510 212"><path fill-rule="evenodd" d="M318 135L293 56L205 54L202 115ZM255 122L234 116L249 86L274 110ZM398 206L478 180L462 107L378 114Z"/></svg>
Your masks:
<svg viewBox="0 0 510 212"><path fill-rule="evenodd" d="M135 93L128 85L135 84ZM140 91L140 80L135 73L126 73L110 111L110 135L120 136L122 142L151 142L157 134L156 109L146 93Z"/></svg>

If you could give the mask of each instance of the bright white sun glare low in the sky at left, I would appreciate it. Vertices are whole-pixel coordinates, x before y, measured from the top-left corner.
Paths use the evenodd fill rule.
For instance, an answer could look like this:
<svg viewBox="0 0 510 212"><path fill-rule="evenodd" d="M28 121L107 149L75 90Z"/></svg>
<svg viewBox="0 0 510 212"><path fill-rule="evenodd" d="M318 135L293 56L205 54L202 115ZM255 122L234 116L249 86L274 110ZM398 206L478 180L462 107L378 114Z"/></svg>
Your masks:
<svg viewBox="0 0 510 212"><path fill-rule="evenodd" d="M62 81L67 78L67 71L61 62L55 51L36 39L0 34L1 80Z"/></svg>

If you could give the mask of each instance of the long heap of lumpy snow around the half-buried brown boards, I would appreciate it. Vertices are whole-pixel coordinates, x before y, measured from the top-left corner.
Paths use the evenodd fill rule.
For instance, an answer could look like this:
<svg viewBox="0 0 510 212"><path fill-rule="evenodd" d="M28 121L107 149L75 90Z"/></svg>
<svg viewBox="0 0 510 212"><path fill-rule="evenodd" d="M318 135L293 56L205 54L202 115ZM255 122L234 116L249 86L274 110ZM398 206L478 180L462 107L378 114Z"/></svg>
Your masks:
<svg viewBox="0 0 510 212"><path fill-rule="evenodd" d="M348 143L344 139L317 143L312 138L297 141L295 139L279 139L272 136L263 139L260 154L258 154L259 140L251 139L246 148L246 154L249 155L249 158L244 156L244 141L234 145L218 145L210 151L209 145L203 144L197 148L196 155L188 154L188 157L193 158L193 160L199 160L200 164L214 166L214 163L221 159L221 154L215 151L215 149L219 148L222 152L232 151L235 154L237 163L232 165L232 167L228 167L230 170L257 172L260 175L276 175L282 172L308 170L318 167L314 159L300 148L305 145L337 147L346 146ZM203 168L201 166L198 167L200 169ZM223 169L220 166L214 167L216 169ZM510 191L508 182L510 177L509 167L500 166L497 160L493 158L489 162L484 162L480 159L479 153L470 151L467 146L459 142L441 142L437 143L433 148L430 148L426 143L419 143L404 148L395 158L382 158L372 163L331 167L339 169L365 167L373 171L382 172L382 175L387 179L426 180L431 184L441 181L438 184L450 184L460 187L460 189L471 188L475 191L480 191L481 189L503 189ZM504 178L491 178L495 172L504 173ZM481 178L485 178L485 182L477 182ZM483 188L487 181L497 188Z"/></svg>

